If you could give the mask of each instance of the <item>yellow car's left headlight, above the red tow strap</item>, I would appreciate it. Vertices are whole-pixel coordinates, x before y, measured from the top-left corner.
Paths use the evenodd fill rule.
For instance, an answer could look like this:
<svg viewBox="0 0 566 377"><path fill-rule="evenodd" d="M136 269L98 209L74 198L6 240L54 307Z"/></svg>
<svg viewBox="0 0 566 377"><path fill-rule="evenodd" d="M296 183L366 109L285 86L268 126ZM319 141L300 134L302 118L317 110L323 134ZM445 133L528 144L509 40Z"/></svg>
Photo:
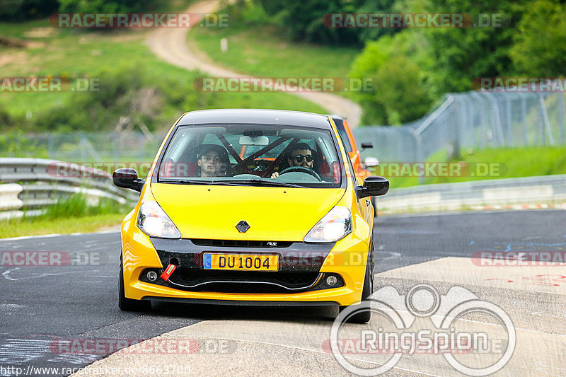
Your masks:
<svg viewBox="0 0 566 377"><path fill-rule="evenodd" d="M148 236L181 238L178 228L157 202L144 202L139 207L137 226Z"/></svg>

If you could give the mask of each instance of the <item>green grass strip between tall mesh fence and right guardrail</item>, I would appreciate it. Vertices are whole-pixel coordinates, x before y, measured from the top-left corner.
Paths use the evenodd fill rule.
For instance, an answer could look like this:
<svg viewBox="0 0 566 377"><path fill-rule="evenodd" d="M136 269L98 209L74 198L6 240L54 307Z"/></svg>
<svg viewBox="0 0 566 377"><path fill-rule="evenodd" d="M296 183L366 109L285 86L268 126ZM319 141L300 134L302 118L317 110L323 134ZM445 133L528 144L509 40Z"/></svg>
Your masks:
<svg viewBox="0 0 566 377"><path fill-rule="evenodd" d="M434 153L428 159L428 162L445 161L446 159L443 156L444 151ZM461 169L463 176L427 177L423 178L422 183L451 183L566 174L566 147L500 148L485 149L483 151L470 149L462 151L462 158L458 161L463 161L470 166L469 170L466 168ZM391 188L419 185L417 177L393 176L388 174L390 171L390 168L382 166L374 170L374 173L388 178L391 182Z"/></svg>

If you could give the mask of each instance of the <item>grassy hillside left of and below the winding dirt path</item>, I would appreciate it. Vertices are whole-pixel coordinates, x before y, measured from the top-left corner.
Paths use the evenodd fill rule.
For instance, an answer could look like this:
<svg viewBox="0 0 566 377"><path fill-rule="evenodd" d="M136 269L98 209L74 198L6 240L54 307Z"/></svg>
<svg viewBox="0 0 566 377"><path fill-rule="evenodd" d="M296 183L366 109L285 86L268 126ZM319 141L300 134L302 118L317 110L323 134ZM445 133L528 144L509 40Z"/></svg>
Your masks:
<svg viewBox="0 0 566 377"><path fill-rule="evenodd" d="M30 29L46 28L51 34L25 37ZM162 62L145 44L146 30L92 31L53 29L47 21L0 23L0 35L21 38L28 47L0 47L2 76L64 76L97 78L101 71L128 69L134 64L144 68L145 79L158 83L177 81L178 88L192 88L192 82L204 74L186 71ZM103 77L100 77L102 80ZM146 80L144 80L146 81ZM175 91L175 86L171 91ZM62 106L71 95L82 93L0 93L0 108L13 117L40 117L43 112ZM199 108L281 108L321 112L320 106L286 93L197 93L190 91L195 108L182 110L163 106L163 128L170 127L182 111ZM114 124L109 125L113 127ZM88 129L88 124L85 125Z"/></svg>

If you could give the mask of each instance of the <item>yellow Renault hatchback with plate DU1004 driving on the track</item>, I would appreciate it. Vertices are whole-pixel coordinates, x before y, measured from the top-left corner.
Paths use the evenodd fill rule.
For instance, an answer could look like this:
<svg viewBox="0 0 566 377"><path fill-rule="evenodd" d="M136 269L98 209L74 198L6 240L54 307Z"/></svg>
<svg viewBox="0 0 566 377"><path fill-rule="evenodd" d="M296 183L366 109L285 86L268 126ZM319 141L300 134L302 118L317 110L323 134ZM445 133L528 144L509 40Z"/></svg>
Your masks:
<svg viewBox="0 0 566 377"><path fill-rule="evenodd" d="M122 222L119 306L151 301L253 306L358 304L373 290L374 207L389 182L358 185L326 115L187 112ZM369 311L351 318L369 320Z"/></svg>

